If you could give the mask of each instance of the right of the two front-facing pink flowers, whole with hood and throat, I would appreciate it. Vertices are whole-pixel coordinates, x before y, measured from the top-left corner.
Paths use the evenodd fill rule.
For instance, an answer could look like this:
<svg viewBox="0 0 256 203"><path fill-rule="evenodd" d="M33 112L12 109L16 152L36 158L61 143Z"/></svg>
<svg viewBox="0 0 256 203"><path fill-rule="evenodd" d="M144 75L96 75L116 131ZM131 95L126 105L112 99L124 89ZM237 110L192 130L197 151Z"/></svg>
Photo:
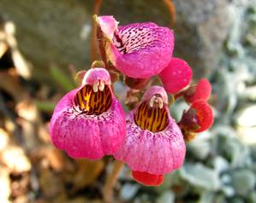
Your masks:
<svg viewBox="0 0 256 203"><path fill-rule="evenodd" d="M170 117L164 88L152 86L140 104L127 115L127 136L122 148L114 154L132 171L154 175L179 168L186 147L182 132Z"/></svg>

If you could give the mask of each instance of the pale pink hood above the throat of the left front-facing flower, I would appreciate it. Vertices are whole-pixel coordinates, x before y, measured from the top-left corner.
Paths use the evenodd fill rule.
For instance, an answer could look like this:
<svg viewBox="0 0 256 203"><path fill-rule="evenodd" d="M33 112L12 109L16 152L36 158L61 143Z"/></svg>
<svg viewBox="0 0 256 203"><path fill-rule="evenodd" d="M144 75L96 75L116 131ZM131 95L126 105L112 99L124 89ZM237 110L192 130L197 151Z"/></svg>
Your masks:
<svg viewBox="0 0 256 203"><path fill-rule="evenodd" d="M82 80L82 86L85 84L94 84L98 80L104 80L105 84L111 84L110 73L101 67L92 68L86 72Z"/></svg>

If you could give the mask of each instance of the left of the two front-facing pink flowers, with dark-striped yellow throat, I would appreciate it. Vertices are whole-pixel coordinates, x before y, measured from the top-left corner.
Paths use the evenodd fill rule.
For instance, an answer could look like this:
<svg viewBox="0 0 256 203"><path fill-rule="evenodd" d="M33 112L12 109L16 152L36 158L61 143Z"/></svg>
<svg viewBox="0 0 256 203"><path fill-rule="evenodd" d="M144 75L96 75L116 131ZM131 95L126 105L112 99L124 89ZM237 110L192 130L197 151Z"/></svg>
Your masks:
<svg viewBox="0 0 256 203"><path fill-rule="evenodd" d="M90 69L80 87L57 103L50 124L51 141L70 157L100 159L122 146L124 117L110 88L110 74L103 68Z"/></svg>

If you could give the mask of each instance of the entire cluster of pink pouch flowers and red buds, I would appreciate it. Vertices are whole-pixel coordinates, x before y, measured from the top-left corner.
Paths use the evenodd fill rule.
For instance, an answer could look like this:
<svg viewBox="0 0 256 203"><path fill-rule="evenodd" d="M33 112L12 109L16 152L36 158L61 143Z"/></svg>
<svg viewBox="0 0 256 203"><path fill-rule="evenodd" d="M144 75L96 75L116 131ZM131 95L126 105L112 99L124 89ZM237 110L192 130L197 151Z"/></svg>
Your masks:
<svg viewBox="0 0 256 203"><path fill-rule="evenodd" d="M185 141L213 121L207 79L190 85L192 69L172 57L174 33L152 22L118 26L112 16L96 17L105 67L91 68L80 86L58 102L51 118L53 144L72 158L101 159L113 155L132 170L136 181L157 186L164 174L182 166ZM145 91L125 113L114 95L110 72L121 73L131 88ZM150 86L152 76L160 85ZM190 108L176 123L168 95L181 95Z"/></svg>

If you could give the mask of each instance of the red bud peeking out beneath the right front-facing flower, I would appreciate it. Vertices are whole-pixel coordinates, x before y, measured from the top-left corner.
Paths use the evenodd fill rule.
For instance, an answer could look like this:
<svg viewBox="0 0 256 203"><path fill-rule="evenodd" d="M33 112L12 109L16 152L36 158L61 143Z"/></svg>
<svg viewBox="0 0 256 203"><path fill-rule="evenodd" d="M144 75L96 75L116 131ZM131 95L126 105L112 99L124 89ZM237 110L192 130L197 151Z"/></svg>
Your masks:
<svg viewBox="0 0 256 203"><path fill-rule="evenodd" d="M158 186L164 181L164 175L155 175L148 172L132 171L134 179L146 186Z"/></svg>

